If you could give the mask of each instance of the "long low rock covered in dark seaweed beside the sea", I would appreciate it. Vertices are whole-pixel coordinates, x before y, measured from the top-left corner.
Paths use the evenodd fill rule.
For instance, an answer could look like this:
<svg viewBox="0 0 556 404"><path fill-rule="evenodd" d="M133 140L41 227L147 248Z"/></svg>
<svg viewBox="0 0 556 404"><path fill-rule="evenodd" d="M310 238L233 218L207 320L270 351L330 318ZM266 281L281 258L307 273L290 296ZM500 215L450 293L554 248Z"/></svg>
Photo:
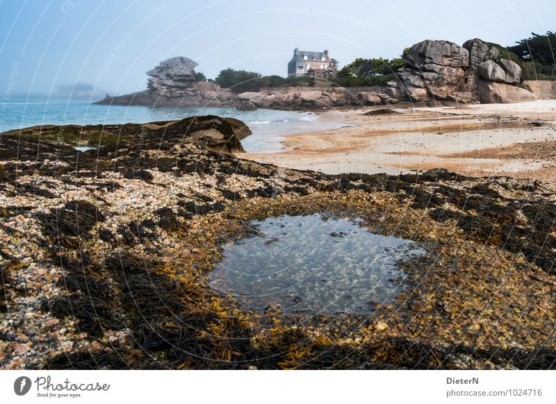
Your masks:
<svg viewBox="0 0 556 404"><path fill-rule="evenodd" d="M95 155L116 150L120 155L137 153L143 147L171 149L183 143L197 144L215 153L243 153L240 140L251 131L239 119L204 115L148 124L33 126L2 135L5 142L0 145L0 157L9 159L72 156L77 151L70 146L82 144L97 148L86 152Z"/></svg>

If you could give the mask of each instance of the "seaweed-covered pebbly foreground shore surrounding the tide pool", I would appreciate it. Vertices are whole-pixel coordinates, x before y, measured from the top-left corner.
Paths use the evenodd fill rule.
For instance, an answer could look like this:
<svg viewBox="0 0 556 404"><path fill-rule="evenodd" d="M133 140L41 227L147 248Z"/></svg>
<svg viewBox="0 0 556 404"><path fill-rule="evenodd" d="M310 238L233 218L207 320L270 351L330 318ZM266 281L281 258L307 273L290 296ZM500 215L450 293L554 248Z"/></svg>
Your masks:
<svg viewBox="0 0 556 404"><path fill-rule="evenodd" d="M552 184L281 169L234 155L248 133L195 117L1 134L0 367L556 366ZM426 249L393 303L259 313L208 286L250 220L319 212Z"/></svg>

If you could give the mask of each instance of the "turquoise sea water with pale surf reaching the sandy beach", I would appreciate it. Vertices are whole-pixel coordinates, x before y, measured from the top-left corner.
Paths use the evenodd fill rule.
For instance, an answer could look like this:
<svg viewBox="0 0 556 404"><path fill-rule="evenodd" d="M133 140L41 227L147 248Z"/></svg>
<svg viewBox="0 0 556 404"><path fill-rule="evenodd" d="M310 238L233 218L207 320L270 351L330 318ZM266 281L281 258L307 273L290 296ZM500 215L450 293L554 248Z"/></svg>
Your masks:
<svg viewBox="0 0 556 404"><path fill-rule="evenodd" d="M10 99L0 103L0 132L35 125L141 124L178 120L196 115L218 115L244 121L253 132L243 141L251 153L271 153L282 146L281 135L325 131L344 122L319 119L313 112L280 110L238 111L234 108L151 108L144 106L98 106L88 101L60 99Z"/></svg>

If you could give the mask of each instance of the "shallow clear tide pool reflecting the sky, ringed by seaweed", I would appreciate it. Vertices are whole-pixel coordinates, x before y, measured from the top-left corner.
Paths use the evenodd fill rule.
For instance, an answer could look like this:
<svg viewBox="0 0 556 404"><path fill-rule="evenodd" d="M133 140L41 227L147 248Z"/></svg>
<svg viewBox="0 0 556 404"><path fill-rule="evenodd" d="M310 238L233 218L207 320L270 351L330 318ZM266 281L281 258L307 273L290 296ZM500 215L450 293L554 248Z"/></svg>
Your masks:
<svg viewBox="0 0 556 404"><path fill-rule="evenodd" d="M211 285L254 310L368 312L401 292L400 260L425 253L415 242L370 233L321 214L252 221L257 235L227 244Z"/></svg>

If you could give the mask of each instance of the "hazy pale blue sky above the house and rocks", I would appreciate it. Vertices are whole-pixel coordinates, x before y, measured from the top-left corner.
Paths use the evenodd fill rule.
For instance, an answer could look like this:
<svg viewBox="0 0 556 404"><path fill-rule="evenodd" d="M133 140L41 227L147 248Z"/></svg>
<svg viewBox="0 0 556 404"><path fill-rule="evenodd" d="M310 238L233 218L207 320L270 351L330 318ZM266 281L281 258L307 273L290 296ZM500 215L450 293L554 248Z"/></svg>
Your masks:
<svg viewBox="0 0 556 404"><path fill-rule="evenodd" d="M126 94L174 56L211 78L228 67L286 76L295 47L343 66L425 39L511 46L556 31L555 15L555 0L0 0L0 92Z"/></svg>

